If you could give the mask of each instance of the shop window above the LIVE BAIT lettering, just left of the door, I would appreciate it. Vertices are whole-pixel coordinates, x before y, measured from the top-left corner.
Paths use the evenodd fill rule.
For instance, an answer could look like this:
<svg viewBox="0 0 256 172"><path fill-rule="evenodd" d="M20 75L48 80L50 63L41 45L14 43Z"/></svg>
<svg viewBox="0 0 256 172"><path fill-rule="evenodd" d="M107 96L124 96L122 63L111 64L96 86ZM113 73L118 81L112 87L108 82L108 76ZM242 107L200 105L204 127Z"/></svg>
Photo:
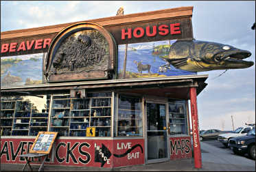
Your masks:
<svg viewBox="0 0 256 172"><path fill-rule="evenodd" d="M115 102L115 136L143 136L141 98L119 94Z"/></svg>

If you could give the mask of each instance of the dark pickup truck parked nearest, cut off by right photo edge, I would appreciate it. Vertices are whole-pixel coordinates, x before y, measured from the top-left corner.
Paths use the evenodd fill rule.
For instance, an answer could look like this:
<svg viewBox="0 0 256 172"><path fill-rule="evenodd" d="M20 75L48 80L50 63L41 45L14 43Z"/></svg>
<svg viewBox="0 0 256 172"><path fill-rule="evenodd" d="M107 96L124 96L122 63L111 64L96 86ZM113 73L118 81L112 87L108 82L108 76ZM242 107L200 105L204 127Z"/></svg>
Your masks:
<svg viewBox="0 0 256 172"><path fill-rule="evenodd" d="M233 137L229 139L229 147L234 154L248 155L255 160L255 127L242 137Z"/></svg>

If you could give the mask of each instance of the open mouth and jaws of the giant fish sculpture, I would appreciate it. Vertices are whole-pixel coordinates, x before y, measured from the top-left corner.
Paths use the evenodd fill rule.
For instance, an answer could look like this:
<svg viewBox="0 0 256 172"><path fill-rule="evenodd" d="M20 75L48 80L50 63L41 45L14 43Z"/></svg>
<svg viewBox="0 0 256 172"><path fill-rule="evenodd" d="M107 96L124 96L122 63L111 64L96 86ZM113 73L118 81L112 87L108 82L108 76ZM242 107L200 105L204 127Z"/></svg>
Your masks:
<svg viewBox="0 0 256 172"><path fill-rule="evenodd" d="M253 61L245 61L243 59L246 59L250 57L252 54L250 51L231 51L231 52L225 52L225 53L219 53L213 57L214 61L217 63L220 61L225 61L226 63L229 63L229 65L234 64L235 66L241 65L244 66L244 68L248 68L250 66L253 66ZM233 68L235 68L235 66ZM241 67L240 66L240 67ZM230 66L232 68L232 66Z"/></svg>

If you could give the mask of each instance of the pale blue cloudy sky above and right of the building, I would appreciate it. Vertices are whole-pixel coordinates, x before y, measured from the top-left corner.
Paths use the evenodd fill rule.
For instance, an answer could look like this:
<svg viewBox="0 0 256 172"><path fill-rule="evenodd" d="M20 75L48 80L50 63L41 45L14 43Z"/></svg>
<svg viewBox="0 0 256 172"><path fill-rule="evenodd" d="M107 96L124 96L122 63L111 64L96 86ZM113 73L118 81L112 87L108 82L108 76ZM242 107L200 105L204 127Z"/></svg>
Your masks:
<svg viewBox="0 0 256 172"><path fill-rule="evenodd" d="M121 6L124 14L194 6L196 40L251 51L255 62L255 1L1 1L1 31L115 16ZM235 128L255 123L255 65L222 72L198 72L209 74L198 96L200 129L232 130L231 115Z"/></svg>

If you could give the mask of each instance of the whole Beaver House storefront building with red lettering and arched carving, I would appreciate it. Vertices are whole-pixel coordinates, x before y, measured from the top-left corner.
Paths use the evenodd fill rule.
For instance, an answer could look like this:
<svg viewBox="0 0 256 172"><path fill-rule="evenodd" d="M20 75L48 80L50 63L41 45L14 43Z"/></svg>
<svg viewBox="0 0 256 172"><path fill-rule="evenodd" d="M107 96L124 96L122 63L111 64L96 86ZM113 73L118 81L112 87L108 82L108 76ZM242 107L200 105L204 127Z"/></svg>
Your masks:
<svg viewBox="0 0 256 172"><path fill-rule="evenodd" d="M192 158L194 146L200 168L196 96L208 76L170 66L172 45L193 40L192 12L1 32L1 163L25 163L36 134L54 131L48 165L124 167Z"/></svg>

